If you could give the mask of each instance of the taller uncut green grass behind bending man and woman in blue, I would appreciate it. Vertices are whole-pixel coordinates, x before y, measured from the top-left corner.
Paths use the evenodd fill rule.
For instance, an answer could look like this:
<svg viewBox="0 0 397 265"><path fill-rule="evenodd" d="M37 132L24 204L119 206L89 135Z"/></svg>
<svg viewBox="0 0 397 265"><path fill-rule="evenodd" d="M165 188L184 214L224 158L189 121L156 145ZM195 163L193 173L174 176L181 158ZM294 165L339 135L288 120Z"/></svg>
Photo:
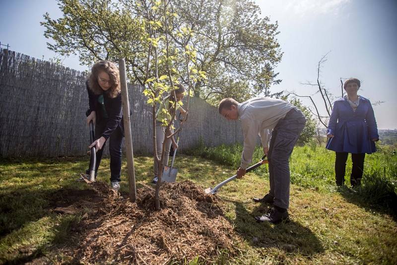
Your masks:
<svg viewBox="0 0 397 265"><path fill-rule="evenodd" d="M388 186L387 191L390 192L393 187L395 189L397 187L397 155L393 155L393 150L387 146L379 145L378 149L378 152L366 155L363 184L367 187L372 186L372 191L383 190L382 187L375 189L379 184L383 187ZM240 165L242 150L241 144L205 147L200 141L195 148L187 150L186 153L237 168ZM260 161L262 155L262 148L257 147L254 151L253 163ZM296 146L290 158L291 183L324 192L334 191L334 161L335 152L318 146L314 141L305 146ZM268 177L267 167L260 167L255 172ZM349 155L346 166L346 185L349 183L350 172Z"/></svg>

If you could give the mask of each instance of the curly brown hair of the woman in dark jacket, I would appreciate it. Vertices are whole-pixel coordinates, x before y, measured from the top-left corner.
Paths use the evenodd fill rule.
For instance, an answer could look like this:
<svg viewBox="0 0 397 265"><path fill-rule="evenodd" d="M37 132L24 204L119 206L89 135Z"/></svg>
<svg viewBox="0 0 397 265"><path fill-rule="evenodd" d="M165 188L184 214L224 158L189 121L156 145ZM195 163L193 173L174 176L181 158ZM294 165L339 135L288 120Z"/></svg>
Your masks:
<svg viewBox="0 0 397 265"><path fill-rule="evenodd" d="M101 86L98 83L98 76L100 72L106 72L110 77L111 87L107 92L107 94L111 98L117 97L121 92L120 87L120 72L119 68L115 64L109 61L99 61L91 68L91 73L88 76L88 87L92 92L96 95L100 95L103 93Z"/></svg>

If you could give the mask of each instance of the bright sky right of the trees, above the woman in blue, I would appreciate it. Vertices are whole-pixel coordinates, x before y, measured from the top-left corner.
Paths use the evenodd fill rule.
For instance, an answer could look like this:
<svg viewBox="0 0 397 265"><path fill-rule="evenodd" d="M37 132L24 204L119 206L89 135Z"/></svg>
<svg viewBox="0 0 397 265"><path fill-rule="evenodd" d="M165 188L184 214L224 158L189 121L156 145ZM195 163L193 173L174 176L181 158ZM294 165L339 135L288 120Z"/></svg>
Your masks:
<svg viewBox="0 0 397 265"><path fill-rule="evenodd" d="M256 2L262 15L278 21L277 39L284 52L276 69L283 81L272 92L313 94L313 87L301 83L316 82L318 62L330 52L320 76L325 87L340 96L340 77L359 78L360 95L371 102L384 101L374 106L378 128L397 128L396 0Z"/></svg>

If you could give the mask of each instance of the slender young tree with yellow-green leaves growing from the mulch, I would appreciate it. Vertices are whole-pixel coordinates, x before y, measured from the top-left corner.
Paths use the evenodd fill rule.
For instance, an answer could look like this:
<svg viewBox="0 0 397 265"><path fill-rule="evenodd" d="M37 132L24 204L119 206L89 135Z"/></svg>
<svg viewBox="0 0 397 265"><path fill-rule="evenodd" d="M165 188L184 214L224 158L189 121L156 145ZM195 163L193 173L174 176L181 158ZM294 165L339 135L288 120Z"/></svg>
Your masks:
<svg viewBox="0 0 397 265"><path fill-rule="evenodd" d="M145 74L145 90L144 95L148 98L147 104L152 106L152 126L153 126L153 154L154 159L158 162L159 175L155 190L155 207L157 210L160 209L160 186L163 174L164 166L164 155L166 139L173 136L181 130L182 125L186 121L189 113L189 99L190 99L190 87L191 80L193 82L200 81L205 78L205 73L200 71L196 67L196 54L197 50L189 44L190 37L192 36L191 30L183 28L181 31L173 30L170 28L174 19L178 18L177 13L171 12L169 0L140 0L139 7L146 10L146 13L140 18L141 29L144 31L141 36L141 41L144 44L146 60L146 74ZM143 10L142 10L143 11ZM171 42L171 36L176 38L178 41L184 44L183 50L177 48L174 43ZM161 157L157 156L156 146L156 103L165 105L165 96L168 92L173 91L175 84L179 83L182 79L182 75L175 68L176 65L185 65L186 73L185 76L188 82L188 99L185 119L181 123L181 127L171 135L167 132L170 128L173 128L173 121L176 112L170 113L170 110L165 106L163 111L166 117L171 116L170 120L164 119L162 121L163 126L166 128L164 131L164 141L162 143ZM175 91L174 98L176 98ZM177 104L183 105L182 102L172 102L174 110L176 110Z"/></svg>

